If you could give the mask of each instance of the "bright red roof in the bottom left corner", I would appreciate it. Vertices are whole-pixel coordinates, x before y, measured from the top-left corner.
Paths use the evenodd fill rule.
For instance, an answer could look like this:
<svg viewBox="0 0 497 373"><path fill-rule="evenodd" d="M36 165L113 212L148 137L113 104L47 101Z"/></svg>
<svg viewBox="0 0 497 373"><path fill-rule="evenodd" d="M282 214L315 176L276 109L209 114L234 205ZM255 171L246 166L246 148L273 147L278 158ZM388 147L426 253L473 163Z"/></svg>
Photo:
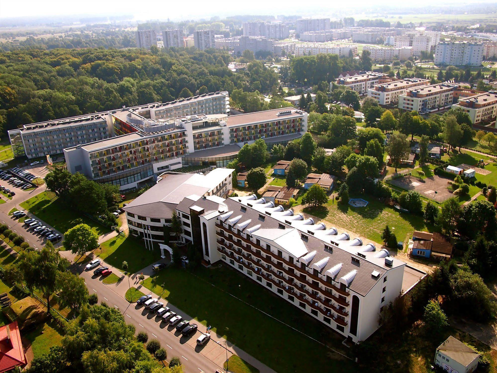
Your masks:
<svg viewBox="0 0 497 373"><path fill-rule="evenodd" d="M17 321L0 327L0 373L26 364Z"/></svg>

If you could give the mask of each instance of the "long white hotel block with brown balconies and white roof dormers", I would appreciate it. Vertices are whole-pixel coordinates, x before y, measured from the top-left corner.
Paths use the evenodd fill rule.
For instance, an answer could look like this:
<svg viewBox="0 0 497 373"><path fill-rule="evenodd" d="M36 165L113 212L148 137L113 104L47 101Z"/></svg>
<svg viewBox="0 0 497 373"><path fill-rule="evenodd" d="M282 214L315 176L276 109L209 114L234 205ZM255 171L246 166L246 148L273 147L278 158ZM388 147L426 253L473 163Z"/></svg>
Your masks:
<svg viewBox="0 0 497 373"><path fill-rule="evenodd" d="M142 199L156 195L154 188ZM201 193L193 191L163 208L164 216L175 208L187 232L183 238L202 250L204 265L223 262L353 342L374 333L384 307L424 276L374 243L351 240L348 233L315 224L264 198ZM171 193L159 194L168 198ZM132 230L134 223L149 224L148 215L162 219L159 207L148 205L124 208ZM141 216L132 209L140 209Z"/></svg>

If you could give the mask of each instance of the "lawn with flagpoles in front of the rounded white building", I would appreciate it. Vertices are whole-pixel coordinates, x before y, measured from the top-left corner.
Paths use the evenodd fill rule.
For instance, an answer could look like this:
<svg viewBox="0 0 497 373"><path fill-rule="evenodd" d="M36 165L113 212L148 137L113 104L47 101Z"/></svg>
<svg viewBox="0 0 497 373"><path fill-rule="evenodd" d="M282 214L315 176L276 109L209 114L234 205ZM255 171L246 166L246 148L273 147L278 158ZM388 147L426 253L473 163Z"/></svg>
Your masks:
<svg viewBox="0 0 497 373"><path fill-rule="evenodd" d="M130 273L136 273L161 259L159 248L149 251L138 239L122 236L103 242L95 254L106 263L119 269L122 267L123 261L127 261Z"/></svg>

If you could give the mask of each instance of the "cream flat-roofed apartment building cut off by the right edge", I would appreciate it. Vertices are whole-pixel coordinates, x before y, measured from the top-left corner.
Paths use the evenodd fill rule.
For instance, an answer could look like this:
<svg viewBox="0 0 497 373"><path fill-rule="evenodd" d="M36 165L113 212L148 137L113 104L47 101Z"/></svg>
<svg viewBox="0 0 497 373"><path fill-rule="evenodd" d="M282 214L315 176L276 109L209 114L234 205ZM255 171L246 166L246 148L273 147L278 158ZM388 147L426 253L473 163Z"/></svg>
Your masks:
<svg viewBox="0 0 497 373"><path fill-rule="evenodd" d="M459 97L459 101L452 107L461 108L467 112L473 124L491 122L496 120L497 116L497 91Z"/></svg>

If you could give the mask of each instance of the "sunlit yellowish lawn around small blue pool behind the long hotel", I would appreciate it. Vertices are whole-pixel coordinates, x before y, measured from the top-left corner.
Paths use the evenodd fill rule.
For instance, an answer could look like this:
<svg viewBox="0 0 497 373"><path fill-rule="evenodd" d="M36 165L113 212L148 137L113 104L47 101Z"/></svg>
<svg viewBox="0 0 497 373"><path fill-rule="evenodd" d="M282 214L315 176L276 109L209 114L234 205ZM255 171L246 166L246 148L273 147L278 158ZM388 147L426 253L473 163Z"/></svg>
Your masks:
<svg viewBox="0 0 497 373"><path fill-rule="evenodd" d="M351 198L363 198L369 203L366 207L352 207L349 204L331 203L329 201L328 215L325 220L330 222L329 226L337 224L340 227L350 229L361 237L381 243L381 234L385 225L393 230L397 241L404 241L408 234L414 230L432 232L433 227L427 226L422 216L400 213L384 203L368 195L354 195ZM350 237L351 239L354 237Z"/></svg>

